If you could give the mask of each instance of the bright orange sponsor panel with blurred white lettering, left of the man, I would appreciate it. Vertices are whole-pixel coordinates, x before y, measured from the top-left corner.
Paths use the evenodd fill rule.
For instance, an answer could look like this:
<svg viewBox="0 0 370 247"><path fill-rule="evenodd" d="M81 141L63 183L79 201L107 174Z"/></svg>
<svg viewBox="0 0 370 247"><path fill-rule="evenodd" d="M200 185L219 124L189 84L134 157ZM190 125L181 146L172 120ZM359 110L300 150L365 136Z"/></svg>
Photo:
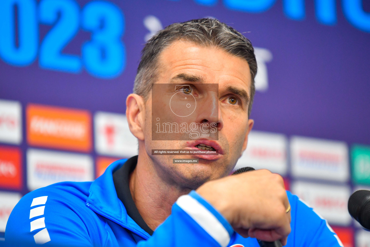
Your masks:
<svg viewBox="0 0 370 247"><path fill-rule="evenodd" d="M91 117L87 110L27 106L28 144L88 152L91 139Z"/></svg>

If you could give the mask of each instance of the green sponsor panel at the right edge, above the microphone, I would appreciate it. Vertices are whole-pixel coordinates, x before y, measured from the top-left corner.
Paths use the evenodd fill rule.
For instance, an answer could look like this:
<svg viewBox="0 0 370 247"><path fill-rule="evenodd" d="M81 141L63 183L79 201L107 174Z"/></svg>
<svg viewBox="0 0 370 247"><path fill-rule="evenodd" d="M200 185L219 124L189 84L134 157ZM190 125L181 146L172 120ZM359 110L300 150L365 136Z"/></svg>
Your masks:
<svg viewBox="0 0 370 247"><path fill-rule="evenodd" d="M354 145L351 160L353 182L370 185L370 146Z"/></svg>

